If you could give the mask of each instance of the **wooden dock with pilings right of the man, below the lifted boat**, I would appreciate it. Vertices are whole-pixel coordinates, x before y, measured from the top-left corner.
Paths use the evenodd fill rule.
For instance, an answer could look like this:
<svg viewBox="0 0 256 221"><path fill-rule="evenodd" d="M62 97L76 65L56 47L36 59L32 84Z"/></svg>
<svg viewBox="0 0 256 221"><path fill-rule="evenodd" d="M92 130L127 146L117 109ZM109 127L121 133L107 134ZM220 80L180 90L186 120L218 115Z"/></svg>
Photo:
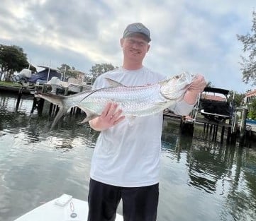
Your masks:
<svg viewBox="0 0 256 221"><path fill-rule="evenodd" d="M242 112L241 119L238 121L236 119L237 112ZM203 129L204 137L211 139L211 141L216 141L217 137L220 138L221 143L226 141L226 143L236 143L237 141L240 145L243 145L247 141L256 139L256 125L246 126L245 120L247 115L247 109L245 107L238 107L235 109L233 117L226 121L212 121L206 119L200 114L197 107L194 108L192 112L192 117L181 116L164 111L164 118L179 121L180 130L182 134L187 136L194 136L194 128L201 127ZM254 132L255 131L255 132Z"/></svg>

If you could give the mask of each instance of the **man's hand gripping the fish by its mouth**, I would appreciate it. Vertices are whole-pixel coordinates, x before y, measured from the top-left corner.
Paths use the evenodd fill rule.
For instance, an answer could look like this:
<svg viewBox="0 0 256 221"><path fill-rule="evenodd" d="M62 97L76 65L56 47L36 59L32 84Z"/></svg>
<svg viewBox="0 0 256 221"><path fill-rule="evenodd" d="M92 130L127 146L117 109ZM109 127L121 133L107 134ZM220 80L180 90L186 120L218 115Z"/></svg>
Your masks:
<svg viewBox="0 0 256 221"><path fill-rule="evenodd" d="M204 90L206 87L206 80L204 80L204 76L198 75L192 81L191 85L187 89L184 95L184 101L188 104L194 104L197 100L199 94Z"/></svg>

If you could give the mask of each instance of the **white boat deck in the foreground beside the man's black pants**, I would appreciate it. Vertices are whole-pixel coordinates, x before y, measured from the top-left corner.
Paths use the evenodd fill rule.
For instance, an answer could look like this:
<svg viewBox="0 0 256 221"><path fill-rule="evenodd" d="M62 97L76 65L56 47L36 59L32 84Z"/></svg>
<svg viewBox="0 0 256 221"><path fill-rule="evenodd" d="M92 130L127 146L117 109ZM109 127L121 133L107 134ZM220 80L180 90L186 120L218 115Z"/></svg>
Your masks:
<svg viewBox="0 0 256 221"><path fill-rule="evenodd" d="M66 193L30 210L14 221L87 221L88 203ZM123 216L116 214L116 221Z"/></svg>

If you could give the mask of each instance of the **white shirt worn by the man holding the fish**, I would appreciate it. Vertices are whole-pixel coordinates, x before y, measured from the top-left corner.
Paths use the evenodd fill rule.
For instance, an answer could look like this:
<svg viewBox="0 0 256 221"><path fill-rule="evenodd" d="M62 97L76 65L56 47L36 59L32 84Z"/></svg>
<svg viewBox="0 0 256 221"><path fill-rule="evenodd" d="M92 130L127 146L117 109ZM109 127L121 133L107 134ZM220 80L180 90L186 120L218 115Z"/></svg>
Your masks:
<svg viewBox="0 0 256 221"><path fill-rule="evenodd" d="M118 68L99 76L93 88L108 87L105 78L126 86L147 85L164 80L165 76L140 68L128 71ZM180 102L175 112L193 105ZM182 114L183 115L183 114ZM135 117L132 124L124 119L116 126L101 131L91 159L91 179L124 187L149 186L159 182L162 136L162 112L147 117Z"/></svg>

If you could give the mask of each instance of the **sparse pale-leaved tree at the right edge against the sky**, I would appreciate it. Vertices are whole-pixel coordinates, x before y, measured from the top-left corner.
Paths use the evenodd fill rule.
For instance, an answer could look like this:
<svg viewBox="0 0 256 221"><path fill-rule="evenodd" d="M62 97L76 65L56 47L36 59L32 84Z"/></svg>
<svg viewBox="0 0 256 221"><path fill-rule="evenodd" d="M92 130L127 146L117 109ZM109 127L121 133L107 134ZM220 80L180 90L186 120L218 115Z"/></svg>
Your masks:
<svg viewBox="0 0 256 221"><path fill-rule="evenodd" d="M256 13L252 12L252 34L237 35L238 40L243 43L243 52L247 54L241 56L242 62L240 62L243 73L243 82L248 83L252 81L252 85L256 85Z"/></svg>

